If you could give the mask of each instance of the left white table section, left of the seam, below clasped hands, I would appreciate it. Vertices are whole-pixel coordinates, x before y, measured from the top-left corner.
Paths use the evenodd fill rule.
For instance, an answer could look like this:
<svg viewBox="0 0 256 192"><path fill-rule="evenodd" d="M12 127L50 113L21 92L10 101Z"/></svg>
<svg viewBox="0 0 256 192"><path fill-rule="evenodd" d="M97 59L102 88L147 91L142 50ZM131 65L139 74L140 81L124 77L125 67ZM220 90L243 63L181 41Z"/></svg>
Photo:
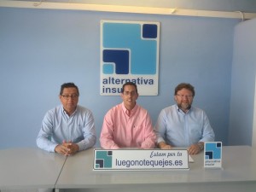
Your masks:
<svg viewBox="0 0 256 192"><path fill-rule="evenodd" d="M65 160L39 148L0 150L0 189L53 189Z"/></svg>

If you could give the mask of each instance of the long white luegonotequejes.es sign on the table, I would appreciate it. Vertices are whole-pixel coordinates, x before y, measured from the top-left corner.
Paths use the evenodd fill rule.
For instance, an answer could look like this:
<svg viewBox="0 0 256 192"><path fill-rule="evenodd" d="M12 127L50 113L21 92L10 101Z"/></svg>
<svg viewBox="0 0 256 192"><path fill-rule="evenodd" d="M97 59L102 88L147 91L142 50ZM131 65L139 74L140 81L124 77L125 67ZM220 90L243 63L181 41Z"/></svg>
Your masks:
<svg viewBox="0 0 256 192"><path fill-rule="evenodd" d="M189 170L189 154L186 149L94 149L93 170Z"/></svg>

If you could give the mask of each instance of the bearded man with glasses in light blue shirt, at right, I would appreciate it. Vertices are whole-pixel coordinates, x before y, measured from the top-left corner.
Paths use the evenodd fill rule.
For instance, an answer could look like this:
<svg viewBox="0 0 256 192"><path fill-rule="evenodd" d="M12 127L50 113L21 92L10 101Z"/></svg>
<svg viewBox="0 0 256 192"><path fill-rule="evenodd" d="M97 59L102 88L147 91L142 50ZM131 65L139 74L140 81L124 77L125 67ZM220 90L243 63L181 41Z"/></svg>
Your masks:
<svg viewBox="0 0 256 192"><path fill-rule="evenodd" d="M177 85L174 93L177 104L162 109L154 127L159 148L188 147L189 154L198 154L204 142L214 141L207 114L192 107L194 96L191 84Z"/></svg>

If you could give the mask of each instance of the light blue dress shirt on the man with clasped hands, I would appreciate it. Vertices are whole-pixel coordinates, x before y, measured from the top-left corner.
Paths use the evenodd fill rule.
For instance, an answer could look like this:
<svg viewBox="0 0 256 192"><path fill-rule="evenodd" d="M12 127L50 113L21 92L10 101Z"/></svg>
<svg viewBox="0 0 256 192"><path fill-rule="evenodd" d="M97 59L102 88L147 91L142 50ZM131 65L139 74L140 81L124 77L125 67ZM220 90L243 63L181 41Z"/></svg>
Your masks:
<svg viewBox="0 0 256 192"><path fill-rule="evenodd" d="M96 129L89 109L78 105L76 111L68 116L60 105L45 114L38 133L38 148L55 152L55 147L64 140L77 143L79 150L95 145Z"/></svg>

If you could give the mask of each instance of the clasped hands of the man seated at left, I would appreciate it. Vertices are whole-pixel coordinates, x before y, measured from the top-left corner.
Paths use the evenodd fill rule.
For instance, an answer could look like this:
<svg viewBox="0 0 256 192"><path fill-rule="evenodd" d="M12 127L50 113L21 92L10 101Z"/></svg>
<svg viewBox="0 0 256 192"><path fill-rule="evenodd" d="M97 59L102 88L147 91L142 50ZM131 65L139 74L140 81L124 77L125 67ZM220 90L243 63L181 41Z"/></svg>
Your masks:
<svg viewBox="0 0 256 192"><path fill-rule="evenodd" d="M63 141L63 143L55 147L56 153L63 154L66 156L75 154L78 151L79 151L79 145L76 143L72 143L71 141L69 142Z"/></svg>

